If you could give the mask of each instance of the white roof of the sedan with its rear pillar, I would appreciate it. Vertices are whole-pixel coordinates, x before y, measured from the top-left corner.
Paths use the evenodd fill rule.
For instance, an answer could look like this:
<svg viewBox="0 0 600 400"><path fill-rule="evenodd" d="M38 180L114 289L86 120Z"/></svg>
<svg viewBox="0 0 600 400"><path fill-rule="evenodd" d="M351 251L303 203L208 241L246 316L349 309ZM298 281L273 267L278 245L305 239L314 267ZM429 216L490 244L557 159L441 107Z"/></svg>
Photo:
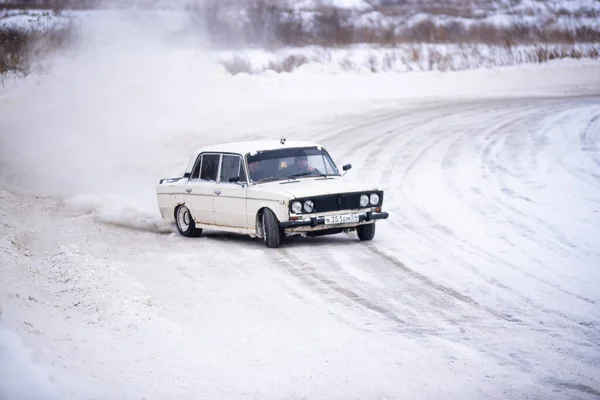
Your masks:
<svg viewBox="0 0 600 400"><path fill-rule="evenodd" d="M284 143L282 143L282 141L283 140L252 140L245 142L221 143L212 146L201 147L194 152L194 155L189 160L185 172L187 173L192 171L194 163L196 162L196 159L200 153L235 153L244 156L247 153L254 153L263 150L277 150L295 147L323 147L319 143L305 140L285 140Z"/></svg>

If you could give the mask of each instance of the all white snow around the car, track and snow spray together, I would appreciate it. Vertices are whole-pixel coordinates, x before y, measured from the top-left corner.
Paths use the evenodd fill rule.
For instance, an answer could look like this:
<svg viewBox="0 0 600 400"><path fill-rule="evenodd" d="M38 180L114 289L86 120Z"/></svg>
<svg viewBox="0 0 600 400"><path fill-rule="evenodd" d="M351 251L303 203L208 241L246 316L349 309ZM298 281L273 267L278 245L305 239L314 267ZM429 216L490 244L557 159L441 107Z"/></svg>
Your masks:
<svg viewBox="0 0 600 400"><path fill-rule="evenodd" d="M598 61L231 76L113 28L0 95L2 400L600 396ZM373 242L161 224L193 149L280 137L383 186Z"/></svg>

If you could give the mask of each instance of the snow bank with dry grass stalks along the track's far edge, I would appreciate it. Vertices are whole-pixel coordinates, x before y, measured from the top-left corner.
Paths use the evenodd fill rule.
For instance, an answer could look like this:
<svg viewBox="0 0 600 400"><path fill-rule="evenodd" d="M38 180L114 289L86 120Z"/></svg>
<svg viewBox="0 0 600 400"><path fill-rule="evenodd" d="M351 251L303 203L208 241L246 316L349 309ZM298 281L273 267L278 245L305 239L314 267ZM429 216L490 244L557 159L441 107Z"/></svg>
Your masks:
<svg viewBox="0 0 600 400"><path fill-rule="evenodd" d="M457 71L544 63L549 58L597 59L600 44L495 46L486 44L413 43L394 47L355 45L338 48L286 47L275 51L241 49L217 51L214 58L232 73L245 68L260 74L269 69L295 72L297 65L319 64L321 72ZM237 63L237 64L236 64ZM304 64L305 65L305 64Z"/></svg>

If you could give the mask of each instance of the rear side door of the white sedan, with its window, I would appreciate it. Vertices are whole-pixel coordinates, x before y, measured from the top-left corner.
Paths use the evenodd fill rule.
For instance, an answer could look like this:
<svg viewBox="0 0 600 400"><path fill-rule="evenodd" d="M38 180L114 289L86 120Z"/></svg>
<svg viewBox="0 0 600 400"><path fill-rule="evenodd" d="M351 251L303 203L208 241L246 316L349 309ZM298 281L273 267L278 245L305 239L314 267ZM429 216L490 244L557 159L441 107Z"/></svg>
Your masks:
<svg viewBox="0 0 600 400"><path fill-rule="evenodd" d="M220 154L201 154L186 185L185 202L198 223L210 225L215 223L213 196L220 162Z"/></svg>

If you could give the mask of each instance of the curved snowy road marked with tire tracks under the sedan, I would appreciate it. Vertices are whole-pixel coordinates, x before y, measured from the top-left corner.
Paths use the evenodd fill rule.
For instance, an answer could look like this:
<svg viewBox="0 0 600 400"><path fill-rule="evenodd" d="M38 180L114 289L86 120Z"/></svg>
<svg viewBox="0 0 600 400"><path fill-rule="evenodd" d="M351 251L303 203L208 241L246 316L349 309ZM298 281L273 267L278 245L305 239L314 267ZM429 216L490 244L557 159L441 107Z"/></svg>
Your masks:
<svg viewBox="0 0 600 400"><path fill-rule="evenodd" d="M3 322L43 390L600 397L599 96L399 101L306 139L385 189L373 242L187 239L1 191Z"/></svg>

